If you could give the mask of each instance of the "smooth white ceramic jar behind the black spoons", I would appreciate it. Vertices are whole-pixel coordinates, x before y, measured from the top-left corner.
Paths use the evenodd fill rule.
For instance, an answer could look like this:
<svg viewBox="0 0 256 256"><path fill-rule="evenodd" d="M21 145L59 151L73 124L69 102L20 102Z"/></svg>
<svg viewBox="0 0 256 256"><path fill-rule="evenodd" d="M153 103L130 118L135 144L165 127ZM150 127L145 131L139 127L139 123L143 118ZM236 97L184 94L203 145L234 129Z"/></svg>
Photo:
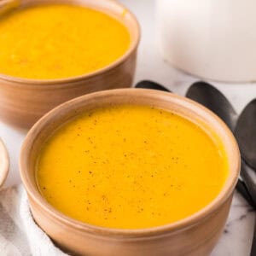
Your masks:
<svg viewBox="0 0 256 256"><path fill-rule="evenodd" d="M160 52L205 79L256 81L255 0L156 0Z"/></svg>

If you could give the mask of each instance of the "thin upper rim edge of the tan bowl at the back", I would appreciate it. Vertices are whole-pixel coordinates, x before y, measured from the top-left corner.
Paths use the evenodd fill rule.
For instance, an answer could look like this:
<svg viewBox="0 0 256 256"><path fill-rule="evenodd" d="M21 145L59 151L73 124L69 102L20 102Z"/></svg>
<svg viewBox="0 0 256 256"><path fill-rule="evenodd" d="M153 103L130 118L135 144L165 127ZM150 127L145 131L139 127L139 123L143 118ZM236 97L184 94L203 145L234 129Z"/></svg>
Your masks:
<svg viewBox="0 0 256 256"><path fill-rule="evenodd" d="M139 25L139 22L137 20L136 15L133 14L133 12L131 12L130 9L126 8L124 4L119 3L119 1L113 1L113 0L105 0L108 1L108 3L111 4L115 4L117 7L124 9L125 10L125 15L130 15L131 16L131 20L134 22L135 24L135 29L136 29L136 38L131 40L131 44L129 46L128 49L126 49L125 53L123 55L121 55L118 59L116 59L115 61L111 62L110 64L108 64L105 67L102 67L96 71L90 72L90 73L85 73L82 75L78 75L78 76L73 76L73 77L69 77L69 78L63 78L63 79L26 79L26 78L20 78L20 77L14 77L8 74L4 74L4 73L0 73L0 79L3 79L5 81L8 82L12 82L12 83L16 83L16 84L21 84L21 85L27 85L27 84L32 84L34 85L51 85L51 84L67 84L67 83L73 83L76 81L80 81L80 80L84 80L84 79L90 79L93 77L96 77L102 73L106 73L109 70L113 69L114 67L118 67L120 64L122 64L123 62L126 61L126 59L128 57L130 57L132 55L132 53L134 53L137 50L138 44L140 43L141 40L141 27ZM74 4L74 5L81 5L81 4ZM86 7L86 4L84 4L84 7ZM91 7L90 7L91 8ZM97 9L97 8L95 8ZM102 9L100 9L100 11L104 12ZM111 10L109 10L109 13L111 13ZM120 21L119 21L120 22ZM128 30L128 32L131 35L131 31L128 28L127 25L125 25L125 23L122 23L125 28Z"/></svg>

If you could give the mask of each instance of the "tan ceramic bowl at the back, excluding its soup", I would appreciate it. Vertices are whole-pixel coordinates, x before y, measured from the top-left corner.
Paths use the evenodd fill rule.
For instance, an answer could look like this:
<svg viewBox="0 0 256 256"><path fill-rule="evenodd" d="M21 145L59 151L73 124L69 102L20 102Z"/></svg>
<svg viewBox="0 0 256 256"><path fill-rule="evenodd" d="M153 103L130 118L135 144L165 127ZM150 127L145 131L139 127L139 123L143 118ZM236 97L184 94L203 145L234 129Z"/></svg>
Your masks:
<svg viewBox="0 0 256 256"><path fill-rule="evenodd" d="M31 127L50 109L77 96L97 90L131 87L137 59L140 28L136 17L113 0L21 0L21 6L39 3L72 3L102 10L123 23L131 46L122 57L94 73L68 79L20 79L0 74L0 119Z"/></svg>

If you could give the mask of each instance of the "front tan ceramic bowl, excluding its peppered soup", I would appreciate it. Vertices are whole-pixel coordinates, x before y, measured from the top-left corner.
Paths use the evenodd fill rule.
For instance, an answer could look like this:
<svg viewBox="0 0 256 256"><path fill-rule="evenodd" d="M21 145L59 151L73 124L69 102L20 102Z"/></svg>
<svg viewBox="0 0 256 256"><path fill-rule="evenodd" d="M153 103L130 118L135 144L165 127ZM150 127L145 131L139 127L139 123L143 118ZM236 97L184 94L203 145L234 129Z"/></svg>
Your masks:
<svg viewBox="0 0 256 256"><path fill-rule="evenodd" d="M45 140L61 124L79 113L122 103L149 105L181 113L188 119L203 122L218 134L228 155L230 174L214 201L200 212L172 224L141 230L117 230L68 218L44 200L35 181L35 165ZM32 127L20 154L20 174L34 219L57 245L81 255L208 255L224 229L239 170L240 154L236 140L216 115L182 96L145 89L105 90L62 104Z"/></svg>

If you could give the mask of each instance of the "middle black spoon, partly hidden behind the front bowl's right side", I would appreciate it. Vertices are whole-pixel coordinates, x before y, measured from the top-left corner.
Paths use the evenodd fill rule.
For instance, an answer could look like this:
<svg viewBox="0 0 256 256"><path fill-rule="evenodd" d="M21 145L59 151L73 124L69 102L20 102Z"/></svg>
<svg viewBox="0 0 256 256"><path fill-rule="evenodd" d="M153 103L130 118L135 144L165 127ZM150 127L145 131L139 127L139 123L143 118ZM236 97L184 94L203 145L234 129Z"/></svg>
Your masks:
<svg viewBox="0 0 256 256"><path fill-rule="evenodd" d="M211 109L212 112L216 113L221 119L224 120L231 131L235 130L236 120L238 118L236 110L232 107L229 100L211 84L207 84L205 82L196 82L190 86L186 96ZM253 195L251 195L250 191L248 191L250 190L249 188L254 187L255 182L253 182L253 180L247 176L246 167L246 164L241 161L241 177L238 180L236 189L247 200L247 202L253 208L255 208L256 197L253 198Z"/></svg>

